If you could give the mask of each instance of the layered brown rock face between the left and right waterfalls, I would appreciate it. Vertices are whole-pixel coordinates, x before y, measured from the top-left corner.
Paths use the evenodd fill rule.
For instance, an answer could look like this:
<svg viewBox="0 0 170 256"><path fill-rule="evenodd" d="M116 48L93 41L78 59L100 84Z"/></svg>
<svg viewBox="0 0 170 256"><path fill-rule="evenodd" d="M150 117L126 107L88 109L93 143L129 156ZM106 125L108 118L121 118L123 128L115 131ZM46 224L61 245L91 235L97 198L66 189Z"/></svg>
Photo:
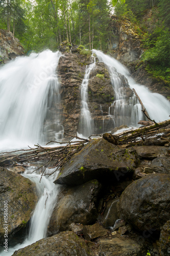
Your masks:
<svg viewBox="0 0 170 256"><path fill-rule="evenodd" d="M58 77L61 83L60 121L65 133L76 135L77 131L81 132L81 84L86 66L90 64L91 59L88 54L82 54L77 47L67 49L63 44L60 51L63 54L58 65ZM118 74L118 77L122 82L125 98L129 99L133 92L129 88L127 79L121 74ZM108 67L105 63L96 60L88 81L88 108L96 134L104 133L114 127L114 121L109 115L114 94Z"/></svg>

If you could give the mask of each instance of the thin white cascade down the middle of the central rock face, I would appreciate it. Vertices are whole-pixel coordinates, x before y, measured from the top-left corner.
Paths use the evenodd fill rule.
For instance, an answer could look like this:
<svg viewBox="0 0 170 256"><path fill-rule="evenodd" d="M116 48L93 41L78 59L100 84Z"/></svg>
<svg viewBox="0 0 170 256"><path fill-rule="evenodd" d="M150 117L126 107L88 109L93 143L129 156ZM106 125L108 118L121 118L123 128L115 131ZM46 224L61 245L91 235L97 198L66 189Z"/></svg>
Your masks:
<svg viewBox="0 0 170 256"><path fill-rule="evenodd" d="M93 120L88 108L88 80L90 77L90 72L94 66L95 58L92 54L91 64L86 67L84 79L81 84L81 116L79 133L84 137L88 137L93 134Z"/></svg>

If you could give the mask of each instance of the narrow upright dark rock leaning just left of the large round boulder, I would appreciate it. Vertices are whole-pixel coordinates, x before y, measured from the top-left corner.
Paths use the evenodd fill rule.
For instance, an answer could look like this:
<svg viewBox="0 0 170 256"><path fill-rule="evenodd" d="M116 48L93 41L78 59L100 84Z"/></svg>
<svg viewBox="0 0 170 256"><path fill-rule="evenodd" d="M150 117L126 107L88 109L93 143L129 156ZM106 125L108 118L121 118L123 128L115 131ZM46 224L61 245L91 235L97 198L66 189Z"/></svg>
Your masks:
<svg viewBox="0 0 170 256"><path fill-rule="evenodd" d="M104 211L102 224L104 227L114 226L115 221L118 219L117 215L117 202L119 198L108 201L106 209Z"/></svg>

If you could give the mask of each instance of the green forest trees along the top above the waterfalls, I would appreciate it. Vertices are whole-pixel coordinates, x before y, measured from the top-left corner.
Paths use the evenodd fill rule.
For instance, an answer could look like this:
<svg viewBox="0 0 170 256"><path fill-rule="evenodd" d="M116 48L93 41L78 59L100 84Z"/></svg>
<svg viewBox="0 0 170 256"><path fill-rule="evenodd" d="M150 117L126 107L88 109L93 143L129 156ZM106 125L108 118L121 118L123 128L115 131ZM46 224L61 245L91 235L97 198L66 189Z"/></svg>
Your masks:
<svg viewBox="0 0 170 256"><path fill-rule="evenodd" d="M152 16L146 22L143 17L149 10ZM113 13L119 19L129 18L142 30L143 61L149 63L148 70L154 70L155 76L169 80L167 0L0 0L0 28L11 31L26 53L57 50L64 40L107 52Z"/></svg>

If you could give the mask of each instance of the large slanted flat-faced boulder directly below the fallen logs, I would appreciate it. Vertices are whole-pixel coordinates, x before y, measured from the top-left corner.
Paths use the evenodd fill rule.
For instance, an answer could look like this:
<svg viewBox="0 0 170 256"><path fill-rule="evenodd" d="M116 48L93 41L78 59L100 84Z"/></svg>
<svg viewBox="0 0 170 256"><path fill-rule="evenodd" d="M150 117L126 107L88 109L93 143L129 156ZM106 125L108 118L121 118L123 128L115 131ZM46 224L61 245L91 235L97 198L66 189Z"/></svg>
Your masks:
<svg viewBox="0 0 170 256"><path fill-rule="evenodd" d="M119 148L105 139L94 139L61 169L55 183L78 185L91 179L119 181L136 168L134 148Z"/></svg>

